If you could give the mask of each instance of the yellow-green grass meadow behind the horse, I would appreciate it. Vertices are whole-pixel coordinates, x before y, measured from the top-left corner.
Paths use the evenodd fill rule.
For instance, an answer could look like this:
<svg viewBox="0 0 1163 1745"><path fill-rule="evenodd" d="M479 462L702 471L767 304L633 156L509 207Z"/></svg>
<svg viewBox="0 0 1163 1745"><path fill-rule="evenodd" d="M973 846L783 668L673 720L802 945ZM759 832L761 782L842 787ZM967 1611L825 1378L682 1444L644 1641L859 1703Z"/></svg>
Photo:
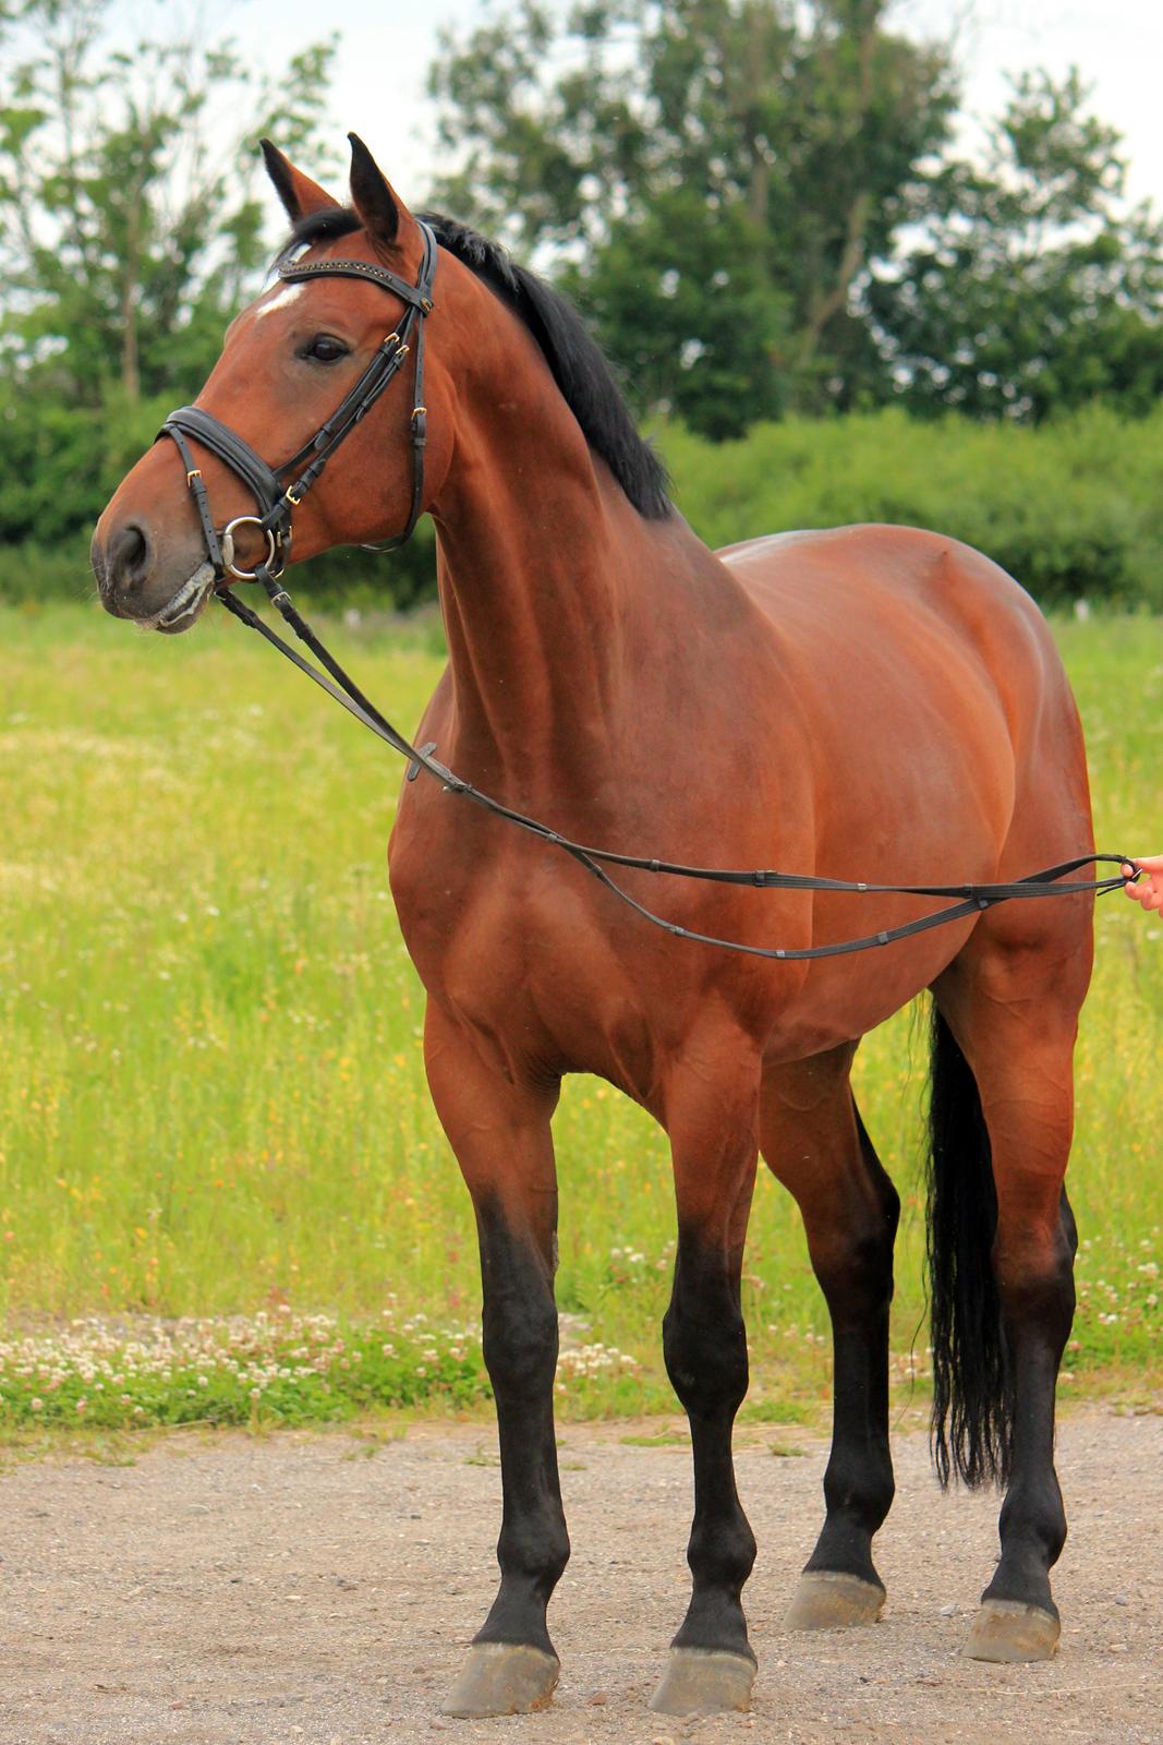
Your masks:
<svg viewBox="0 0 1163 1745"><path fill-rule="evenodd" d="M1163 626L1058 635L1098 841L1158 850ZM337 628L335 644L411 728L439 670L432 635ZM225 614L166 640L96 606L0 611L0 1323L289 1304L357 1328L378 1323L389 1293L399 1324L417 1310L443 1330L473 1321L473 1220L429 1105L422 995L387 893L399 782L384 747ZM1135 1396L1158 1384L1163 1354L1163 925L1116 895L1098 941L1067 1386ZM901 1014L867 1040L860 1099L905 1201L894 1351L901 1377L915 1351L922 1393L912 1031ZM568 1084L556 1138L561 1309L586 1349L635 1359L579 1359L563 1405L666 1403L664 1141L588 1078ZM826 1317L795 1209L765 1176L746 1314L748 1410L814 1410Z"/></svg>

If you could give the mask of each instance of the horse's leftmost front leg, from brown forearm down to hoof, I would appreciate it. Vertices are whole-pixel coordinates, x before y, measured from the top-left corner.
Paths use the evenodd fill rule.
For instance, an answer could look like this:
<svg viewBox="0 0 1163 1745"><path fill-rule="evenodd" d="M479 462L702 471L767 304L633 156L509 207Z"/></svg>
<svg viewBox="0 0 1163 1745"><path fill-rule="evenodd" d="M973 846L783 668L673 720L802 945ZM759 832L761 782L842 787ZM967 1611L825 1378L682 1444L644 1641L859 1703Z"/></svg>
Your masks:
<svg viewBox="0 0 1163 1745"><path fill-rule="evenodd" d="M558 1087L514 1084L434 1003L425 1061L476 1211L504 1495L500 1588L445 1714L513 1715L542 1708L558 1682L546 1607L570 1555L553 1433L558 1188L549 1119Z"/></svg>

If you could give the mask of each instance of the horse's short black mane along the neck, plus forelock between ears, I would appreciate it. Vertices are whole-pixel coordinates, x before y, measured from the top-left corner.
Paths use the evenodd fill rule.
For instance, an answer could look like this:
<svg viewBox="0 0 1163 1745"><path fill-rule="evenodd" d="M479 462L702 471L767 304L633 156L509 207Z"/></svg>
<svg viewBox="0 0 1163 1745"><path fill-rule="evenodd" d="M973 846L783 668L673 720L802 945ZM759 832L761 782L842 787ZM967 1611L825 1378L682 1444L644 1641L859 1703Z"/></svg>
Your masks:
<svg viewBox="0 0 1163 1745"><path fill-rule="evenodd" d="M490 291L521 318L541 346L561 396L581 424L589 447L602 455L633 506L649 520L670 515L666 468L635 429L610 365L593 342L577 311L544 279L518 267L499 243L441 213L422 213L441 248L464 262ZM277 263L312 243L335 241L359 230L347 206L328 206L300 218Z"/></svg>

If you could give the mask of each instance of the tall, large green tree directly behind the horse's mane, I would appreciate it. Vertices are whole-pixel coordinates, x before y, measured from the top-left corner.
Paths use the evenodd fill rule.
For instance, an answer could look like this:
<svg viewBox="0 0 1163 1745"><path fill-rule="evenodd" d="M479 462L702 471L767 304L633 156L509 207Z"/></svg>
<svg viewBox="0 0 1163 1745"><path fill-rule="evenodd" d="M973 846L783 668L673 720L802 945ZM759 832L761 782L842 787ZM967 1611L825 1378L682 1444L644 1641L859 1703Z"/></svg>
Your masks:
<svg viewBox="0 0 1163 1745"><path fill-rule="evenodd" d="M436 199L541 248L640 407L713 436L879 393L853 286L924 209L947 49L891 0L516 0L431 72Z"/></svg>

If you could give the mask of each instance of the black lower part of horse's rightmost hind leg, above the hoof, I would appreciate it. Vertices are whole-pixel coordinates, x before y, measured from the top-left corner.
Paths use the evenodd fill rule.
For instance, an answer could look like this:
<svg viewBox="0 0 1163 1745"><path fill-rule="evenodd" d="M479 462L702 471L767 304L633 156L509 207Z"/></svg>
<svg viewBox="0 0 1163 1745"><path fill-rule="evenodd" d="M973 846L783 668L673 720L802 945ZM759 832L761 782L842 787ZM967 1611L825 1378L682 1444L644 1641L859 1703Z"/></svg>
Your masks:
<svg viewBox="0 0 1163 1745"><path fill-rule="evenodd" d="M982 1595L1041 1605L1057 1618L1050 1570L1065 1544L1065 1509L1053 1466L1058 1363L1074 1319L1074 1218L1062 1195L1057 1267L1050 1276L1001 1279L1013 1373L1010 1483L1001 1508L1001 1560ZM1015 1274L1024 1269L1015 1269Z"/></svg>

